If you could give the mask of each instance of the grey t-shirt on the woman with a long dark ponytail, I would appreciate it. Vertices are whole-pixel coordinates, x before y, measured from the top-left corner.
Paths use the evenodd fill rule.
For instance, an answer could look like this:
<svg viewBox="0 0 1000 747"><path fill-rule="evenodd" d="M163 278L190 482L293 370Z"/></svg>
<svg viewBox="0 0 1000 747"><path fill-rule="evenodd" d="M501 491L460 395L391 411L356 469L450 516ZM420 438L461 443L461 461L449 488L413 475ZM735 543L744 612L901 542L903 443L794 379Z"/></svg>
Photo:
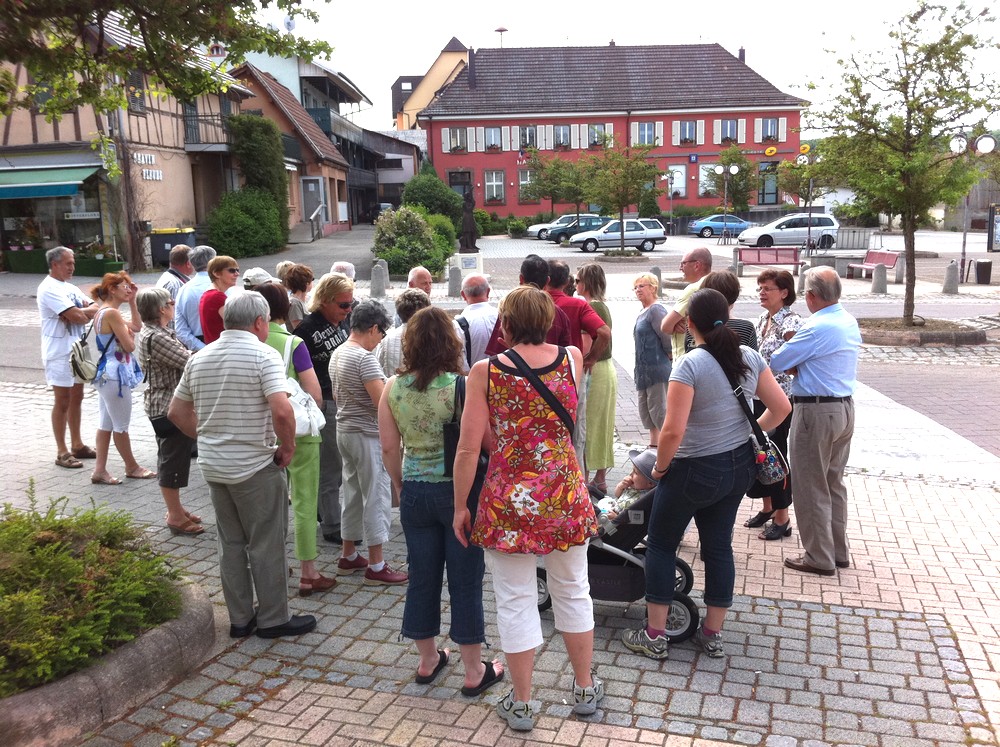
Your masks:
<svg viewBox="0 0 1000 747"><path fill-rule="evenodd" d="M757 380L767 364L760 353L741 345L743 360L750 366L750 373L741 381L744 396L752 407L757 391ZM712 354L695 348L674 363L671 381L694 387L694 401L688 416L684 438L677 448L677 458L708 456L731 451L750 438L750 423L736 401L722 367Z"/></svg>

